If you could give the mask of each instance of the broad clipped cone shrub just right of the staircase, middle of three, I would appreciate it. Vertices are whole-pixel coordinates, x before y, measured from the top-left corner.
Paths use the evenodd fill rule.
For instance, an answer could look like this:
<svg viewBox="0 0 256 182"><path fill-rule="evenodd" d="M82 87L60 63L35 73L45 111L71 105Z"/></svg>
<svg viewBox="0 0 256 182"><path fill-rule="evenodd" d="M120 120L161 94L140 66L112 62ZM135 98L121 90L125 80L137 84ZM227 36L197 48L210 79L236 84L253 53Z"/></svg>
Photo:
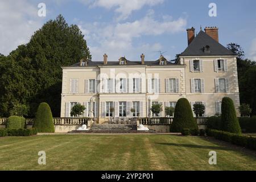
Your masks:
<svg viewBox="0 0 256 182"><path fill-rule="evenodd" d="M198 126L196 119L193 117L191 105L187 98L180 98L177 101L174 111L174 121L171 124L171 132L181 133L183 129L196 129Z"/></svg>

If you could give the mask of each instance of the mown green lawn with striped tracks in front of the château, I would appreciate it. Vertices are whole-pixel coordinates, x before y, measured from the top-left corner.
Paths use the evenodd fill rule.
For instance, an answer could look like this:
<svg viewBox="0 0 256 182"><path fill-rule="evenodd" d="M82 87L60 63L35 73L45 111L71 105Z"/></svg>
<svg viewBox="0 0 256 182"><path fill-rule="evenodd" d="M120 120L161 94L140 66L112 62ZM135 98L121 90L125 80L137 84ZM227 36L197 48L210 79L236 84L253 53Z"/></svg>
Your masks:
<svg viewBox="0 0 256 182"><path fill-rule="evenodd" d="M217 152L216 166L208 164L212 150ZM47 165L38 164L39 151L46 151ZM201 137L6 137L0 138L0 170L256 170L256 156L244 148Z"/></svg>

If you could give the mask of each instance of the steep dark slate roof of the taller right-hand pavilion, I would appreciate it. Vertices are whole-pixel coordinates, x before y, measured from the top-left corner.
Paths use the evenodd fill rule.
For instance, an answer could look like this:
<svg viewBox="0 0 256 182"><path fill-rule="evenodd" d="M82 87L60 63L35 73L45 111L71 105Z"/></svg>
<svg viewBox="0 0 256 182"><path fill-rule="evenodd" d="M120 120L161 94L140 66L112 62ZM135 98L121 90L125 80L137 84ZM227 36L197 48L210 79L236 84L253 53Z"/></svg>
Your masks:
<svg viewBox="0 0 256 182"><path fill-rule="evenodd" d="M204 52L204 47L209 46L210 52ZM232 51L222 46L205 32L200 31L180 56L235 56Z"/></svg>

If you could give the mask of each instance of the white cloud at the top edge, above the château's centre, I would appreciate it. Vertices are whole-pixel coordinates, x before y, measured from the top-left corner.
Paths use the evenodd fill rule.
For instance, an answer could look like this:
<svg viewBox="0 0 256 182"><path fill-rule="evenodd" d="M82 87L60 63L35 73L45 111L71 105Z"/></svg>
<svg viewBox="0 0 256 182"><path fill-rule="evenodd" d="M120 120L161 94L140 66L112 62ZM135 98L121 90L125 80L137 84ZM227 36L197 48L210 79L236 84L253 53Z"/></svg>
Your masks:
<svg viewBox="0 0 256 182"><path fill-rule="evenodd" d="M104 7L105 9L114 9L118 14L117 20L125 20L135 10L140 10L144 6L155 6L163 3L164 0L80 0L80 2L91 7Z"/></svg>

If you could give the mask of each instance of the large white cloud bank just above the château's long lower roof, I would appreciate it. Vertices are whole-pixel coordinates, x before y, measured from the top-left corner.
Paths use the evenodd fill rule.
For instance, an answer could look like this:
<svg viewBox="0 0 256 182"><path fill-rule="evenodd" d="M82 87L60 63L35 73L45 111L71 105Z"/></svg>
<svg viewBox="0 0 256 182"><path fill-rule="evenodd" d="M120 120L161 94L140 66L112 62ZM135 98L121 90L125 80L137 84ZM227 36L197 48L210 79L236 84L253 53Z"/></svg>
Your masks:
<svg viewBox="0 0 256 182"><path fill-rule="evenodd" d="M158 53L154 51L162 49L162 45L156 42L135 46L136 38L146 36L150 39L151 36L175 34L185 30L186 19L170 20L170 16L168 17L156 20L151 11L144 18L134 22L111 24L79 22L79 27L85 33L93 60L102 60L104 53L108 54L110 60L118 60L121 56L126 56L130 60L139 60L141 53L144 53L147 58L155 57L154 55Z"/></svg>

